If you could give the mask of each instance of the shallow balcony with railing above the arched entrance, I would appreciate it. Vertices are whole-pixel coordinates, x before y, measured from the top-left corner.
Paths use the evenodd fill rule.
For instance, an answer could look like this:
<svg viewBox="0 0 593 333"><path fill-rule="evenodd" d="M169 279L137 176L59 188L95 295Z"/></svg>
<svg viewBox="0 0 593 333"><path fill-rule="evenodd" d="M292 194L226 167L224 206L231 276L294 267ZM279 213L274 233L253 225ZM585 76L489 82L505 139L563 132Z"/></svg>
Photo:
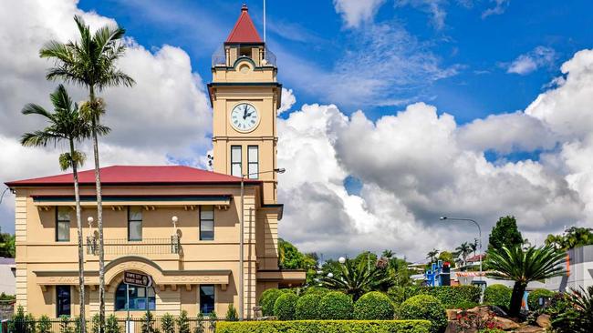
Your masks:
<svg viewBox="0 0 593 333"><path fill-rule="evenodd" d="M181 255L180 238L144 238L142 240L128 240L127 238L104 238L103 251L106 256L148 256L148 255ZM87 254L99 256L99 238L87 237Z"/></svg>

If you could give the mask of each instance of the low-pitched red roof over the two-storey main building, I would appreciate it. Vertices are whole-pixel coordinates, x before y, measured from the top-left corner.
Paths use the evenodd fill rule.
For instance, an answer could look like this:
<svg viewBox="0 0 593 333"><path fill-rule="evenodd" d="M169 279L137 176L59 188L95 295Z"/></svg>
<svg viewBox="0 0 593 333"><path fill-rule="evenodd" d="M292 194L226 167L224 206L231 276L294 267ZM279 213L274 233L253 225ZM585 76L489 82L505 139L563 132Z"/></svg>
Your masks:
<svg viewBox="0 0 593 333"><path fill-rule="evenodd" d="M240 177L219 174L191 166L106 166L101 167L101 184L200 184L238 183ZM78 172L81 185L95 184L95 170ZM72 184L72 174L16 180L7 187ZM257 181L245 179L245 183Z"/></svg>

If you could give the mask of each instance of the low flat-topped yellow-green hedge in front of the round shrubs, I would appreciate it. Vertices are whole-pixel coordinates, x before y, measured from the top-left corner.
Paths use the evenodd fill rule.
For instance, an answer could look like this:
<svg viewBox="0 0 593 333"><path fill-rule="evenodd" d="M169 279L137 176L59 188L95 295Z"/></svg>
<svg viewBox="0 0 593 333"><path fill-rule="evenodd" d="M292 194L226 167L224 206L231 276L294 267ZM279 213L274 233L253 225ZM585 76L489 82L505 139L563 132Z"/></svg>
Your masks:
<svg viewBox="0 0 593 333"><path fill-rule="evenodd" d="M216 333L429 333L427 320L295 320L220 322Z"/></svg>

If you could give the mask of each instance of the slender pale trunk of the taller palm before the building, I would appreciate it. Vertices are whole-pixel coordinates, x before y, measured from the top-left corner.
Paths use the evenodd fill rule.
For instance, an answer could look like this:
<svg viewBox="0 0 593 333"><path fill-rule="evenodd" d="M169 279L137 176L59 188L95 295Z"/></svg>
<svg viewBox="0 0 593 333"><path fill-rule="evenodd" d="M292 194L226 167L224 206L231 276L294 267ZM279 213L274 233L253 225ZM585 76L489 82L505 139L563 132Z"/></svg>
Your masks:
<svg viewBox="0 0 593 333"><path fill-rule="evenodd" d="M96 106L95 90L89 86L91 106ZM103 241L103 201L101 198L101 175L99 166L99 138L97 125L99 115L92 116L93 155L95 157L95 187L97 187L97 229L99 230L99 333L105 332L105 251Z"/></svg>

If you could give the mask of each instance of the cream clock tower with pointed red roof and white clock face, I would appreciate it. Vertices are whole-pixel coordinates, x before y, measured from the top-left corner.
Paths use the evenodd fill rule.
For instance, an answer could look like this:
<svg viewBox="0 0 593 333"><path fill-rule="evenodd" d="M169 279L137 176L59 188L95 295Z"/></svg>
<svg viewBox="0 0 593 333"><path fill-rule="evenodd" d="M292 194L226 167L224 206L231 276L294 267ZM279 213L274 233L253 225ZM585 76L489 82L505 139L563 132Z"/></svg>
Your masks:
<svg viewBox="0 0 593 333"><path fill-rule="evenodd" d="M276 111L282 85L276 56L257 34L246 5L213 55L213 171L263 182L265 204L276 204Z"/></svg>

